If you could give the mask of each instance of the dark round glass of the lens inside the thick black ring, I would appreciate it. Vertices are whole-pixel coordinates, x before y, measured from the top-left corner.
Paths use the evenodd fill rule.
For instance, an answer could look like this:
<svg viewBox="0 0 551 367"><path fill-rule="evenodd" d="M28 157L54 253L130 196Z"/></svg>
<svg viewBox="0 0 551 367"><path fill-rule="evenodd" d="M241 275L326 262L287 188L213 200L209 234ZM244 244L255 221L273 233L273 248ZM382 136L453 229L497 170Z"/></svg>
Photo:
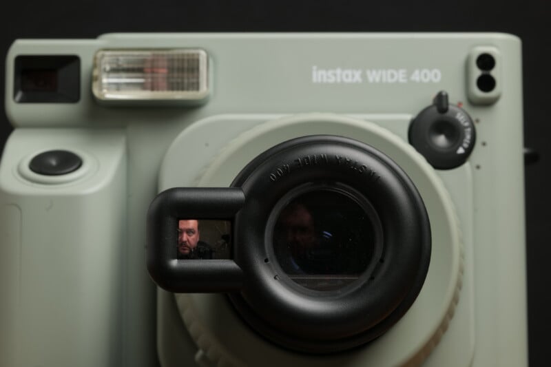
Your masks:
<svg viewBox="0 0 551 367"><path fill-rule="evenodd" d="M366 209L352 195L331 189L293 199L280 212L273 234L282 270L318 291L357 280L371 262L377 240Z"/></svg>

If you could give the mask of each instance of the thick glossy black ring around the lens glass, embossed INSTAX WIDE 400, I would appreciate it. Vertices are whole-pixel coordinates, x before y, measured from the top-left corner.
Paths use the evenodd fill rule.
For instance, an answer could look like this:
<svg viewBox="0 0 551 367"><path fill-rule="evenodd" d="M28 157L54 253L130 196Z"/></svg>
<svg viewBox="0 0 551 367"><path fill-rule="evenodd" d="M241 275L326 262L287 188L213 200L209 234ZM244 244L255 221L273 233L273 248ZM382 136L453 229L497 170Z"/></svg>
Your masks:
<svg viewBox="0 0 551 367"><path fill-rule="evenodd" d="M384 262L375 280L320 297L283 284L277 262L264 262L273 208L289 191L312 182L348 185L377 211ZM413 182L377 149L339 136L289 140L253 159L231 186L247 200L233 223L233 257L245 281L229 299L264 337L307 353L346 350L380 336L413 304L430 262L430 224Z"/></svg>

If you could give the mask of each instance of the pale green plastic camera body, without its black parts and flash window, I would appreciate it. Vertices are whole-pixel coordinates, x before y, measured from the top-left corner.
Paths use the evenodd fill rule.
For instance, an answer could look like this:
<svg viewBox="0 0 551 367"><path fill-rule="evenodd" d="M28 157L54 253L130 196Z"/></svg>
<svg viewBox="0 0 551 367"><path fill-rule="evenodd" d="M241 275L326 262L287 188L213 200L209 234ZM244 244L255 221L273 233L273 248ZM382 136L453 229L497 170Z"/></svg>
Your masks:
<svg viewBox="0 0 551 367"><path fill-rule="evenodd" d="M208 55L198 103L92 93L99 50L178 48ZM489 72L480 54L495 59ZM16 59L37 55L78 56L78 101L17 101ZM528 364L516 37L106 34L19 40L6 65L15 130L0 163L0 366ZM434 169L408 137L441 90L476 129L472 154L452 169ZM268 342L225 295L157 289L145 266L145 216L158 192L228 187L258 154L314 134L360 140L397 162L433 236L425 284L404 317L373 342L322 357ZM54 149L81 166L57 176L28 169Z"/></svg>

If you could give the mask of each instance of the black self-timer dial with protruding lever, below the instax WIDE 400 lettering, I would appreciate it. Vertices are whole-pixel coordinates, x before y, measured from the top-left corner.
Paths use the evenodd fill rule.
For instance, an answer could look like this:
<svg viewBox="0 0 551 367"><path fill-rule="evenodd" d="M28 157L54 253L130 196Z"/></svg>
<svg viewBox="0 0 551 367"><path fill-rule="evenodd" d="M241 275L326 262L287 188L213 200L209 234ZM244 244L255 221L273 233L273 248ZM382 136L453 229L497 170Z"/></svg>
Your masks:
<svg viewBox="0 0 551 367"><path fill-rule="evenodd" d="M448 103L448 93L439 92L430 105L419 112L409 127L409 142L436 169L463 165L475 147L475 124L456 105Z"/></svg>

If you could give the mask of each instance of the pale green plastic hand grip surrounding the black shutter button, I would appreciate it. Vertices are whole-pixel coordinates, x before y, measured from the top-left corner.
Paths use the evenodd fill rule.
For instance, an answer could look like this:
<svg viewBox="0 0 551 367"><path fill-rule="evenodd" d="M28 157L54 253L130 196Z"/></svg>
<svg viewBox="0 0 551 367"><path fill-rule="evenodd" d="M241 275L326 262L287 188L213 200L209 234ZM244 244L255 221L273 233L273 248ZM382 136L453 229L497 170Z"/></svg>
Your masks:
<svg viewBox="0 0 551 367"><path fill-rule="evenodd" d="M17 129L8 140L0 165L0 366L120 363L125 140L121 130L70 129ZM28 157L50 149L78 152L85 163L65 181L21 174Z"/></svg>

